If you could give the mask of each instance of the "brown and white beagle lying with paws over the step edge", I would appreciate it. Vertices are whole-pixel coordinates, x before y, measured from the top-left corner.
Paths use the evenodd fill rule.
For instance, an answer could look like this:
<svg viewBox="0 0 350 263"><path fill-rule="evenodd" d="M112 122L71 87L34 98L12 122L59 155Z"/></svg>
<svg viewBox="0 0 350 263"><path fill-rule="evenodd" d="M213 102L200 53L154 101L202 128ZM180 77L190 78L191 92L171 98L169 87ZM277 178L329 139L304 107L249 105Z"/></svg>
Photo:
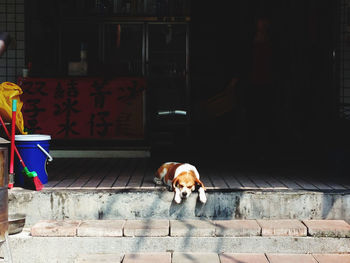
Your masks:
<svg viewBox="0 0 350 263"><path fill-rule="evenodd" d="M199 173L191 164L167 162L163 163L155 173L154 182L158 185L165 184L175 192L174 200L180 204L182 199L188 198L199 186L199 201L205 203L205 187L199 180Z"/></svg>

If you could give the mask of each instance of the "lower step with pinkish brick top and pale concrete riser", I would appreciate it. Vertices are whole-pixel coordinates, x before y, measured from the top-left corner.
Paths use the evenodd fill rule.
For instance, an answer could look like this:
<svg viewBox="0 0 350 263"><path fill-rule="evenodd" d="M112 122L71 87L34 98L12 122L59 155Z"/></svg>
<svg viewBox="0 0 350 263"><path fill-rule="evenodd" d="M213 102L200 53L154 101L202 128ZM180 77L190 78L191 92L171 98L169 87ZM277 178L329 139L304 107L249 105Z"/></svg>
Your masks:
<svg viewBox="0 0 350 263"><path fill-rule="evenodd" d="M310 254L350 253L350 225L344 220L43 220L10 235L10 247L19 263L215 262L181 254L192 252L211 253L221 262L237 262L232 253L260 253L266 262L309 262L270 255L308 254L307 260L318 262ZM150 251L166 259L132 256Z"/></svg>

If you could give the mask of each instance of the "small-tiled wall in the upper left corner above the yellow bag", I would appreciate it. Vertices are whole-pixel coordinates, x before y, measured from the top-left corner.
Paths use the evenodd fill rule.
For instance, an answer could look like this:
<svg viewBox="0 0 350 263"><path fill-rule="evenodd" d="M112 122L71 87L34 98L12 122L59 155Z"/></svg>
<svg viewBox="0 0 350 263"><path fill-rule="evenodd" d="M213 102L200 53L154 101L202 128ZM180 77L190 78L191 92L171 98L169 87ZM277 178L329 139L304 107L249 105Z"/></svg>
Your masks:
<svg viewBox="0 0 350 263"><path fill-rule="evenodd" d="M0 31L10 33L14 45L0 57L0 83L16 79L24 68L24 0L0 0Z"/></svg>

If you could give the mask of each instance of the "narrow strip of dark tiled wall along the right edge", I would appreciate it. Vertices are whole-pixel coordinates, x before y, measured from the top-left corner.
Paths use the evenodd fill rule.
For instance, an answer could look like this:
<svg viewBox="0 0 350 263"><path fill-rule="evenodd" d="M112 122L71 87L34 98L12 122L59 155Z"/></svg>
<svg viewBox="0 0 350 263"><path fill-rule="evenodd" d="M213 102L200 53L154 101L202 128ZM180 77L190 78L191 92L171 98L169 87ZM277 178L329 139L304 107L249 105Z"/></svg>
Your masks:
<svg viewBox="0 0 350 263"><path fill-rule="evenodd" d="M339 36L339 113L343 119L350 120L350 0L341 0Z"/></svg>

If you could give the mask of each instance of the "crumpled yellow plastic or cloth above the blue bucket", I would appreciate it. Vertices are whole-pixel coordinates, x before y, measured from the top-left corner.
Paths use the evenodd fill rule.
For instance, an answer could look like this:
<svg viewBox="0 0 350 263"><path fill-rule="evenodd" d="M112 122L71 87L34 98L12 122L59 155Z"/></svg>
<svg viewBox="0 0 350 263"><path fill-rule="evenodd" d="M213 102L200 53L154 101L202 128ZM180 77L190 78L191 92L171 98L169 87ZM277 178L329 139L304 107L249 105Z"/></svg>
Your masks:
<svg viewBox="0 0 350 263"><path fill-rule="evenodd" d="M16 128L21 134L24 132L24 120L22 115L23 102L19 95L23 93L22 89L14 83L3 82L0 84L0 114L4 121L11 122L12 120L12 100L17 100L16 111Z"/></svg>

